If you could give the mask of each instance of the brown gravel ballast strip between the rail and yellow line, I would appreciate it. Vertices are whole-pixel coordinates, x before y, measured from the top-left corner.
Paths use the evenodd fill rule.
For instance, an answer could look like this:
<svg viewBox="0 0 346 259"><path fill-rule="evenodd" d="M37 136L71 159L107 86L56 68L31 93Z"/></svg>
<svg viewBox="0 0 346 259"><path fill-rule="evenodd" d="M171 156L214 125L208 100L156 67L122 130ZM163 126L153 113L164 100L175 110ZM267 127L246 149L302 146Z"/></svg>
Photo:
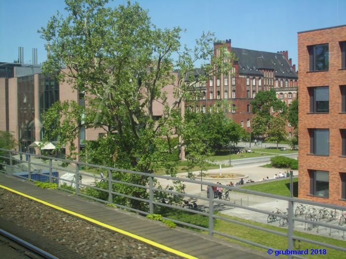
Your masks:
<svg viewBox="0 0 346 259"><path fill-rule="evenodd" d="M66 246L87 259L181 258L2 188L0 217Z"/></svg>

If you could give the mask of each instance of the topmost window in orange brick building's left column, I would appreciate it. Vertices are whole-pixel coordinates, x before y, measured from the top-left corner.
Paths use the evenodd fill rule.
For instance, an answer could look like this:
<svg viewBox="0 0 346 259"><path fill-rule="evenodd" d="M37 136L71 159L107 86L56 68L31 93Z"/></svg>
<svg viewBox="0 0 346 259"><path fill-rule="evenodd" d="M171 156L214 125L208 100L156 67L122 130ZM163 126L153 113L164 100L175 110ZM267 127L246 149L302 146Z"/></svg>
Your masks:
<svg viewBox="0 0 346 259"><path fill-rule="evenodd" d="M308 46L310 71L326 71L329 69L328 44Z"/></svg>

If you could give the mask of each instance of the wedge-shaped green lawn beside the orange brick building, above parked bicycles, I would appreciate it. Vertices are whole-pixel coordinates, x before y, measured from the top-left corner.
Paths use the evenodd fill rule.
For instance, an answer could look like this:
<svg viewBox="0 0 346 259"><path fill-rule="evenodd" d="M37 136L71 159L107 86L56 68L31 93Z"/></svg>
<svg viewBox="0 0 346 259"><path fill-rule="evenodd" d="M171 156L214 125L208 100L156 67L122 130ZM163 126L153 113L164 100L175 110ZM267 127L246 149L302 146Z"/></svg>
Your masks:
<svg viewBox="0 0 346 259"><path fill-rule="evenodd" d="M266 193L281 195L281 196L290 196L290 179L270 181L270 182L260 182L259 184L244 185L240 188L262 191ZM293 179L293 195L298 196L298 178Z"/></svg>

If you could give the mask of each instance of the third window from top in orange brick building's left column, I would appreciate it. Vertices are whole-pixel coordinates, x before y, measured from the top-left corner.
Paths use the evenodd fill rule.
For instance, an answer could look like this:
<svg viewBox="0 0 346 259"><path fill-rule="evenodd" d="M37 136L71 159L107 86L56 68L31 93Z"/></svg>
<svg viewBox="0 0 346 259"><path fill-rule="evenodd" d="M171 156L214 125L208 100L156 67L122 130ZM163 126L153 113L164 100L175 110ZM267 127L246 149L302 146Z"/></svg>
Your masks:
<svg viewBox="0 0 346 259"><path fill-rule="evenodd" d="M310 154L329 155L329 129L308 129Z"/></svg>

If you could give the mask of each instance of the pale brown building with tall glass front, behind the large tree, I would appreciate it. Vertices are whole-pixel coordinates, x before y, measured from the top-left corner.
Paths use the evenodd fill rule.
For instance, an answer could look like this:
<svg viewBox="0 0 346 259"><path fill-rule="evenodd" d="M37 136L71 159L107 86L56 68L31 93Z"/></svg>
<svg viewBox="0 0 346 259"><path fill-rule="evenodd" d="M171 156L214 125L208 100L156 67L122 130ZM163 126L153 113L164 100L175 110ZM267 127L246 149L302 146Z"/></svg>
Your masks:
<svg viewBox="0 0 346 259"><path fill-rule="evenodd" d="M0 130L13 134L20 151L39 153L33 143L42 140L44 129L41 116L54 102L73 100L81 106L88 105L84 95L68 82L59 83L41 72L39 65L0 62ZM173 90L171 84L162 89L167 93L170 105L175 101ZM161 117L163 109L162 102L154 101L153 115L156 119ZM79 138L74 142L77 151L85 146L84 140L96 140L103 133L101 128L81 128ZM68 147L60 150L59 155L65 153L69 153Z"/></svg>

